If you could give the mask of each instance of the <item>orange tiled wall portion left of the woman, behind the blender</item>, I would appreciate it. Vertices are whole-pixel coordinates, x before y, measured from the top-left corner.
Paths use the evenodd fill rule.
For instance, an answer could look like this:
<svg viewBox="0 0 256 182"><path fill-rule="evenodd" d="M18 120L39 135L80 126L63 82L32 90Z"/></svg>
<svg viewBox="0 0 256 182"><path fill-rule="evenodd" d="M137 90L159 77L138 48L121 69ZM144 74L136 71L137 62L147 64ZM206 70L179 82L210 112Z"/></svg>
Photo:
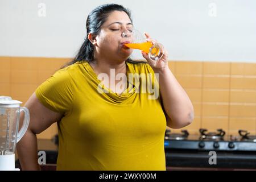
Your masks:
<svg viewBox="0 0 256 182"><path fill-rule="evenodd" d="M0 57L0 95L11 96L25 104L35 89L68 61L40 57ZM53 124L38 138L52 138L56 133L57 126Z"/></svg>

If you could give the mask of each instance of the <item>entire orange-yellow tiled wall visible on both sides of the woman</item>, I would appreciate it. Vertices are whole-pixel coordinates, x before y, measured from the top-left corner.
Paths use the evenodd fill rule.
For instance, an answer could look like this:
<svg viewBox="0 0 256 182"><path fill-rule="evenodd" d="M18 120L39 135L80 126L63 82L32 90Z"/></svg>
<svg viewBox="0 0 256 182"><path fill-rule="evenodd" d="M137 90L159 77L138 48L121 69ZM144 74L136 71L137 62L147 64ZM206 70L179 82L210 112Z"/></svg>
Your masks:
<svg viewBox="0 0 256 182"><path fill-rule="evenodd" d="M69 60L0 57L0 95L26 102L37 86ZM256 133L255 63L170 61L169 65L195 109L195 120L183 129L191 134L201 127L221 128L228 134L239 129ZM52 138L56 132L54 124L38 138Z"/></svg>

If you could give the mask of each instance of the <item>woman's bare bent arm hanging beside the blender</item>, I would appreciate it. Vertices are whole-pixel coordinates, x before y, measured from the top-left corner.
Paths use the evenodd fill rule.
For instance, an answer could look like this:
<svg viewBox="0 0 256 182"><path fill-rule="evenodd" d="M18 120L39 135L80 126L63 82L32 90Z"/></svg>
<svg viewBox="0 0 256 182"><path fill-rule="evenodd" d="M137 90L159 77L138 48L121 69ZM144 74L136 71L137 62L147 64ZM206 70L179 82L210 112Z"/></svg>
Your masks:
<svg viewBox="0 0 256 182"><path fill-rule="evenodd" d="M62 114L49 110L41 104L35 93L28 99L24 107L30 111L30 125L26 134L17 143L19 162L22 170L40 170L36 134L46 130L52 123L59 121ZM23 121L23 114L20 115L20 121Z"/></svg>

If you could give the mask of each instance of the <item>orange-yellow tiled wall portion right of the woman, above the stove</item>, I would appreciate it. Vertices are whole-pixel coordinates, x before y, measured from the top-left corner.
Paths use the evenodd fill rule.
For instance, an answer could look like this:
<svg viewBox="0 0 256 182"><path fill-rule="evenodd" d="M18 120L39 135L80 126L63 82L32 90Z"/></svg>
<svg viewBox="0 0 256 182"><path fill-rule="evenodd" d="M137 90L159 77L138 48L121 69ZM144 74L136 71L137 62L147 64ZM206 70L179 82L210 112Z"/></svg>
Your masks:
<svg viewBox="0 0 256 182"><path fill-rule="evenodd" d="M191 98L195 120L184 129L239 129L256 133L256 64L171 61L170 68ZM179 130L172 130L177 132Z"/></svg>

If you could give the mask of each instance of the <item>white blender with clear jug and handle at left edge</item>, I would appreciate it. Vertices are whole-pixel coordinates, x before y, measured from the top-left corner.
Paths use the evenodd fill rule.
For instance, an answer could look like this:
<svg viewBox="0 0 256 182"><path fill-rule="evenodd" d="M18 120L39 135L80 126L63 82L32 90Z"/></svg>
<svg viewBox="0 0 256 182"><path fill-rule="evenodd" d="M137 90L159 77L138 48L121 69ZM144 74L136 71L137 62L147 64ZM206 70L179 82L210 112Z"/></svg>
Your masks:
<svg viewBox="0 0 256 182"><path fill-rule="evenodd" d="M16 143L26 133L30 114L22 102L0 96L0 171L15 171ZM24 112L23 125L19 131L20 112Z"/></svg>

